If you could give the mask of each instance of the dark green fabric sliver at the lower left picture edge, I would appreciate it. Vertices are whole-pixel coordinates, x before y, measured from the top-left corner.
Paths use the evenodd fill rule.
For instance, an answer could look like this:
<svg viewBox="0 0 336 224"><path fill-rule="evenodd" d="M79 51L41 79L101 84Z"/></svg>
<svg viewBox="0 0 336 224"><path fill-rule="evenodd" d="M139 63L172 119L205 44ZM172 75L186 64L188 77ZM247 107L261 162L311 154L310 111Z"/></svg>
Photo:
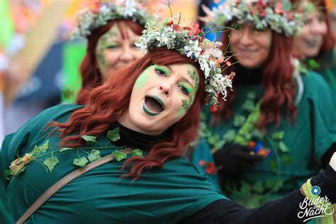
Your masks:
<svg viewBox="0 0 336 224"><path fill-rule="evenodd" d="M4 167L2 166L2 157L0 154L0 223L14 223L9 203L6 196L6 181L4 176Z"/></svg>

